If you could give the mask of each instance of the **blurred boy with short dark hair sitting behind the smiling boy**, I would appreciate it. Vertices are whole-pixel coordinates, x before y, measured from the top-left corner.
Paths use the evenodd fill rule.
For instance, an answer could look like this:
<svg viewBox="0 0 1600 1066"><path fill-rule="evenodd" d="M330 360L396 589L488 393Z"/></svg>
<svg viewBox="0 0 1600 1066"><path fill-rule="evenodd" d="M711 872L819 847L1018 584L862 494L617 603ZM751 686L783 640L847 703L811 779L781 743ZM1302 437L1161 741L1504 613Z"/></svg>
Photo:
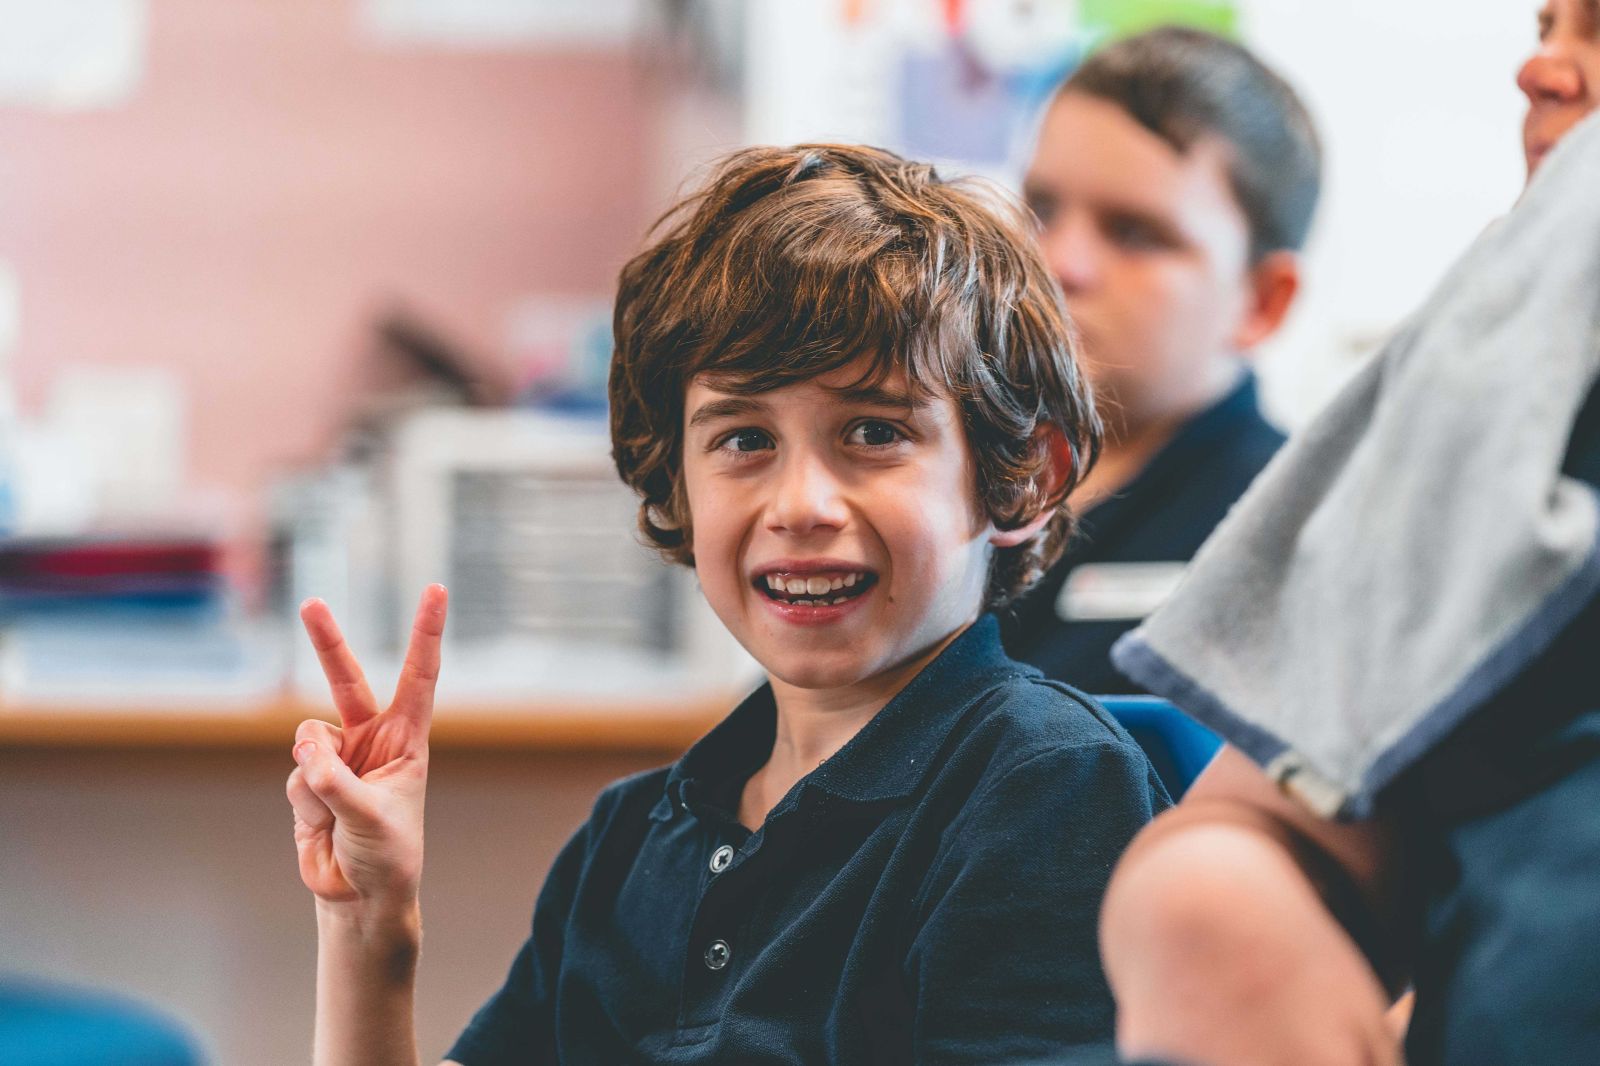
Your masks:
<svg viewBox="0 0 1600 1066"><path fill-rule="evenodd" d="M1283 443L1250 359L1299 291L1320 162L1288 83L1213 34L1130 37L1058 90L1022 192L1107 437L1074 493L1075 541L1008 621L1013 656L1138 691L1110 645Z"/></svg>

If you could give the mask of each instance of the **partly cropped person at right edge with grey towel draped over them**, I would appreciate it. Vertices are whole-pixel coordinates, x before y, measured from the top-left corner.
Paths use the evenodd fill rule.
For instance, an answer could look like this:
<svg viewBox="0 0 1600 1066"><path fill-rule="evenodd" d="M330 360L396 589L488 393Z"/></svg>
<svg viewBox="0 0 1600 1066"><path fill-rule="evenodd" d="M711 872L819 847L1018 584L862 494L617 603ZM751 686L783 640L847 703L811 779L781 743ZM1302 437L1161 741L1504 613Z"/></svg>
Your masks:
<svg viewBox="0 0 1600 1066"><path fill-rule="evenodd" d="M1210 631L1211 661L1187 663L1195 683L1157 661L1171 663L1157 627L1190 621L1184 592L1118 648L1242 749L1224 749L1117 871L1102 936L1125 1053L1397 1063L1384 1008L1411 981L1405 1061L1595 1061L1600 5L1550 0L1517 82L1528 98L1523 200L1302 437L1307 450L1336 443L1341 410L1371 389L1398 416L1379 407L1355 437L1381 456L1376 477L1323 466L1344 507L1301 499L1269 514L1253 491L1197 560L1194 591L1235 547L1288 543L1278 522L1302 546L1288 576L1318 562L1341 576L1248 583L1250 602L1222 605L1234 616ZM1478 387L1485 379L1502 387ZM1278 472L1307 469L1283 458ZM1384 496L1389 487L1400 491ZM1413 488L1426 506L1406 507ZM1370 506L1386 498L1400 506ZM1342 531L1352 512L1365 536L1318 538L1318 525ZM1398 565L1366 568L1363 555ZM1304 632L1315 648L1294 626L1258 626L1259 605L1280 599L1306 608L1302 619L1322 616ZM1232 645L1264 629L1274 663L1258 672ZM1254 683L1272 672L1306 701L1226 712L1242 704L1222 691L1224 674ZM1370 685L1374 675L1384 683ZM1334 693L1330 704L1312 685ZM1429 714L1370 711L1386 701ZM1344 763L1360 775L1330 775L1330 749L1360 752Z"/></svg>

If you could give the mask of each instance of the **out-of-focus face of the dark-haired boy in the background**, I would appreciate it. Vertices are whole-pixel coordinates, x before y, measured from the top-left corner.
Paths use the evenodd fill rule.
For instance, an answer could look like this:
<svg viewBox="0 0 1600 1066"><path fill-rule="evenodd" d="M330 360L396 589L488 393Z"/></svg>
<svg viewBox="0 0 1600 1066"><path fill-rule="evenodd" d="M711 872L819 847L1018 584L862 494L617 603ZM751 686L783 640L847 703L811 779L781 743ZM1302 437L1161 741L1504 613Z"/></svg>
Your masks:
<svg viewBox="0 0 1600 1066"><path fill-rule="evenodd" d="M1022 182L1110 424L1187 413L1232 376L1250 226L1219 146L1179 154L1083 93L1045 115Z"/></svg>

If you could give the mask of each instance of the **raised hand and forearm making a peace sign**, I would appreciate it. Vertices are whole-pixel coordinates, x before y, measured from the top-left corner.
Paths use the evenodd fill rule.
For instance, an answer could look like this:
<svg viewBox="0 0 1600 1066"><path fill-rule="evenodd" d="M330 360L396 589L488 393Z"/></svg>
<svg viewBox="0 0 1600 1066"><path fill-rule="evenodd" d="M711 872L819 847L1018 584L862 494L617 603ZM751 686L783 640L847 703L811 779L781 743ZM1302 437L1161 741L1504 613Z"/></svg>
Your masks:
<svg viewBox="0 0 1600 1066"><path fill-rule="evenodd" d="M430 586L386 711L326 603L301 610L341 722L301 723L286 786L301 880L317 898L317 1066L418 1063L422 800L445 610L445 589Z"/></svg>

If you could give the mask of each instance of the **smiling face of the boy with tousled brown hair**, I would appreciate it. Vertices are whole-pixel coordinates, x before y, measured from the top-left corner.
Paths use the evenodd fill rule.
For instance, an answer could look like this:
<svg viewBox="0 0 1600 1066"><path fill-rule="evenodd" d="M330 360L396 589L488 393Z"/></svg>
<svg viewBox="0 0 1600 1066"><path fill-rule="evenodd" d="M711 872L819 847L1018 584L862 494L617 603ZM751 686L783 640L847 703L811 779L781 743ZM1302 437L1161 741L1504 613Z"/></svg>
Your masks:
<svg viewBox="0 0 1600 1066"><path fill-rule="evenodd" d="M955 402L909 408L904 375L853 389L858 376L688 387L694 570L774 685L870 690L982 602L992 527Z"/></svg>

